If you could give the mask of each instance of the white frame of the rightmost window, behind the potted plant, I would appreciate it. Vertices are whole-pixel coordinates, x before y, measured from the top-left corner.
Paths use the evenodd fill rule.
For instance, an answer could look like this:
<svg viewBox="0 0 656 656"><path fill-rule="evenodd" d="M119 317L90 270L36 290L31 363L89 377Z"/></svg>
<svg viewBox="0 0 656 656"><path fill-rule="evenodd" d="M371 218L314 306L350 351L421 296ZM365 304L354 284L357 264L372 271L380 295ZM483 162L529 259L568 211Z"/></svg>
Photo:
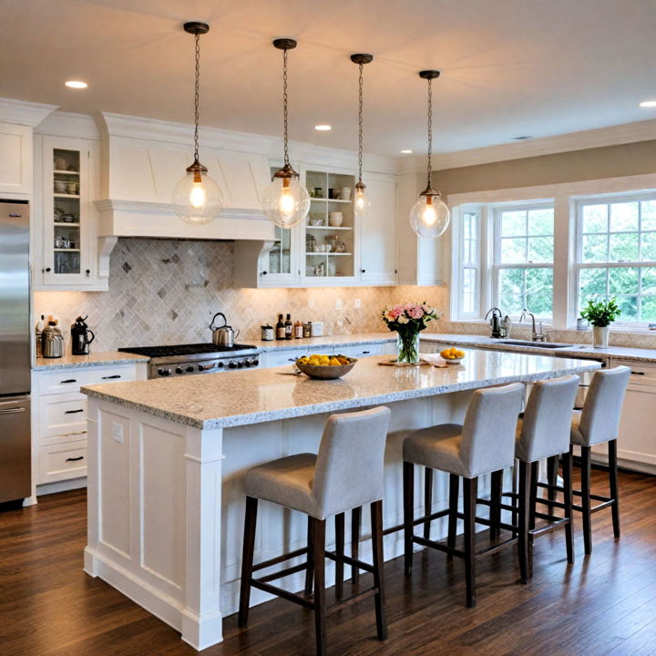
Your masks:
<svg viewBox="0 0 656 656"><path fill-rule="evenodd" d="M576 213L576 233L575 233L575 250L574 250L574 261L572 263L572 276L571 276L571 295L573 301L572 311L575 315L579 314L579 283L580 283L580 273L584 269L625 269L625 268L641 268L641 267L656 267L656 260L641 260L641 261L605 261L605 262L583 262L583 208L586 205L608 205L610 206L613 203L622 203L622 202L638 202L639 203L639 222L638 222L638 239L640 243L641 231L641 206L640 202L644 200L654 200L656 201L656 190L645 190L640 192L633 193L624 193L617 195L608 195L600 194L595 196L588 196L585 198L579 198L575 201L574 211ZM609 209L609 220L610 220L610 209ZM610 239L610 226L608 233ZM617 233L622 234L622 233ZM633 234L633 232L631 232ZM639 288L636 296L640 301L641 297L641 282L639 279ZM623 321L621 317L618 321L614 322L615 327L624 326L626 328L633 329L647 329L649 324L653 322L648 321Z"/></svg>

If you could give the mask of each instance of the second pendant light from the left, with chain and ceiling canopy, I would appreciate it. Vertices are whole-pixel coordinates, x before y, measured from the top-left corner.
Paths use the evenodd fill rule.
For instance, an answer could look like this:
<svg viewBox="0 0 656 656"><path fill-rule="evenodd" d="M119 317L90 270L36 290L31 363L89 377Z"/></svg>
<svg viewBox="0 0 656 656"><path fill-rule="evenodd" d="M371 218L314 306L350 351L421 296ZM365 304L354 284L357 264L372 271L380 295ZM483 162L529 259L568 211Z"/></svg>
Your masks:
<svg viewBox="0 0 656 656"><path fill-rule="evenodd" d="M275 39L273 46L282 50L282 114L284 123L284 162L273 174L272 183L262 195L264 213L280 228L293 228L310 211L310 196L299 182L298 173L289 161L287 135L287 51L296 47L293 39Z"/></svg>

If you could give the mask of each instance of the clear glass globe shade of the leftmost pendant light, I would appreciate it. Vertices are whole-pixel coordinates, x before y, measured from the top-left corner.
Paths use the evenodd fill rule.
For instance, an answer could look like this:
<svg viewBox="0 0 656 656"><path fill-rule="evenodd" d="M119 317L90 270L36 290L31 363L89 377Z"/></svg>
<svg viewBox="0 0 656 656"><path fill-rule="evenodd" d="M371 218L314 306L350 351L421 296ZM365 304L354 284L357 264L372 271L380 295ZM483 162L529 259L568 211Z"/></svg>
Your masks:
<svg viewBox="0 0 656 656"><path fill-rule="evenodd" d="M203 225L219 216L223 209L223 194L207 174L207 169L195 161L187 169L187 175L173 188L172 202L181 220L191 225Z"/></svg>

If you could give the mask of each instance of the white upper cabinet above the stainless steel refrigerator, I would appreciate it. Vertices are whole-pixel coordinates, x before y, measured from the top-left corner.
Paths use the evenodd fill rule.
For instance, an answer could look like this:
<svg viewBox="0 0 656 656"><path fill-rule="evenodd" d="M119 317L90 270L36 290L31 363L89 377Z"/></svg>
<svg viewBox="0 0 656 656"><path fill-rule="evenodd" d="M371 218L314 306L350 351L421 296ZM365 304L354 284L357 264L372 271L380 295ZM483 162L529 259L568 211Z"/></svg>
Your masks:
<svg viewBox="0 0 656 656"><path fill-rule="evenodd" d="M32 128L0 123L0 193L32 192Z"/></svg>

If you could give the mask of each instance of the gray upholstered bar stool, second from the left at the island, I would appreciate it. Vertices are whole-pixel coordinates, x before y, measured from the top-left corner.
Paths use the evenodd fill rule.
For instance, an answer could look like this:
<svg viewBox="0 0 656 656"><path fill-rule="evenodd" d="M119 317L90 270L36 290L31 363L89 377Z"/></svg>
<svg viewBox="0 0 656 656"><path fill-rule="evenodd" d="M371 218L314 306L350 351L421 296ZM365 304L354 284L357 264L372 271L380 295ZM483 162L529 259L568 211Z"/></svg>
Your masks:
<svg viewBox="0 0 656 656"><path fill-rule="evenodd" d="M480 389L473 393L467 405L465 422L442 424L415 431L407 436L404 456L404 532L405 575L412 574L415 544L436 548L451 556L465 559L466 604L476 606L476 560L484 553L497 551L514 544L517 538L495 545L487 551L475 553L476 507L478 477L512 466L515 460L515 434L524 396L524 385L508 384L502 387ZM415 465L448 472L449 508L415 520ZM464 513L457 512L459 479L465 488ZM449 516L449 538L446 545L415 535L415 525ZM465 520L465 548L455 548L456 521ZM489 524L489 522L486 522Z"/></svg>

